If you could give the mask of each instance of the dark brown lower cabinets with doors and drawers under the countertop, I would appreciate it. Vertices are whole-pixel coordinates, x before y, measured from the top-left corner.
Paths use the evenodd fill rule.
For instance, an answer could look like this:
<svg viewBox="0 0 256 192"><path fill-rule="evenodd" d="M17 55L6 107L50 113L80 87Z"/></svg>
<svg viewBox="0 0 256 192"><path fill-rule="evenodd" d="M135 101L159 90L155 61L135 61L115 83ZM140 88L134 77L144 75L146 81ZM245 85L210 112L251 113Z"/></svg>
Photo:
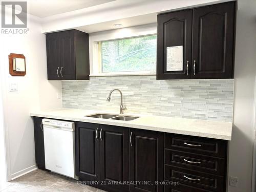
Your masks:
<svg viewBox="0 0 256 192"><path fill-rule="evenodd" d="M42 118L35 154L45 169ZM224 192L227 141L129 127L75 123L76 175L110 192ZM46 170L46 169L45 169Z"/></svg>

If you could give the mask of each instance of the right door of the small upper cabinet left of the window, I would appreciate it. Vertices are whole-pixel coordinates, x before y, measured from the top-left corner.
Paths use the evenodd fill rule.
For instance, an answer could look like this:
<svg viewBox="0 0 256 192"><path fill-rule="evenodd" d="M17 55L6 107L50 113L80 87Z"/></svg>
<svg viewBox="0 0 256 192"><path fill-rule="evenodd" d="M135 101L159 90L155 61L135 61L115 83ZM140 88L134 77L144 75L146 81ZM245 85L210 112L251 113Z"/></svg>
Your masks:
<svg viewBox="0 0 256 192"><path fill-rule="evenodd" d="M76 79L74 30L59 32L61 79Z"/></svg>

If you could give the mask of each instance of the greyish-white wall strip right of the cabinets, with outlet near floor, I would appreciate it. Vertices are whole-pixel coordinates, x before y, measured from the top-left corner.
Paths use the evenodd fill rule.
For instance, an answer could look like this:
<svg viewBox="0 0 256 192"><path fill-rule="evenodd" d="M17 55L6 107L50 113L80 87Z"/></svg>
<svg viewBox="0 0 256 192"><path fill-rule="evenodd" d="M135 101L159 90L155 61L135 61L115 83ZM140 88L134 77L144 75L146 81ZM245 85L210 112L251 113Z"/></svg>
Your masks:
<svg viewBox="0 0 256 192"><path fill-rule="evenodd" d="M229 150L229 176L238 177L232 192L251 191L253 154L253 96L256 75L256 1L240 0L237 13L234 68L233 133ZM253 181L255 182L255 181Z"/></svg>

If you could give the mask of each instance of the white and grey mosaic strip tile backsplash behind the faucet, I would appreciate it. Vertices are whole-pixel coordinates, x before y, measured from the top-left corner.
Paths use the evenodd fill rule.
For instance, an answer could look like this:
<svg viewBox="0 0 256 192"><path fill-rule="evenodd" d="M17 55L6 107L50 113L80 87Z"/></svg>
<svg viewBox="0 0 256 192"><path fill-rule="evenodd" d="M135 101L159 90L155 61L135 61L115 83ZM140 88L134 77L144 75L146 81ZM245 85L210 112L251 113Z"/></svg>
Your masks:
<svg viewBox="0 0 256 192"><path fill-rule="evenodd" d="M233 79L156 80L156 76L90 77L62 81L63 108L119 113L120 89L124 113L232 121Z"/></svg>

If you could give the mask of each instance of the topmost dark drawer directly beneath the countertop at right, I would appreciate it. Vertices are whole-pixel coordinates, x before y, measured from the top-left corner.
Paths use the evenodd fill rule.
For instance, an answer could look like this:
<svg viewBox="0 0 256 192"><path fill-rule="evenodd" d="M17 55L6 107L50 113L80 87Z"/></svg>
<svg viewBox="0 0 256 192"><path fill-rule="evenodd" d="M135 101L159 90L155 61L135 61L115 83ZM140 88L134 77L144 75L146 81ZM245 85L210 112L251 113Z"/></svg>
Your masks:
<svg viewBox="0 0 256 192"><path fill-rule="evenodd" d="M177 151L225 158L227 141L166 133L165 147Z"/></svg>

